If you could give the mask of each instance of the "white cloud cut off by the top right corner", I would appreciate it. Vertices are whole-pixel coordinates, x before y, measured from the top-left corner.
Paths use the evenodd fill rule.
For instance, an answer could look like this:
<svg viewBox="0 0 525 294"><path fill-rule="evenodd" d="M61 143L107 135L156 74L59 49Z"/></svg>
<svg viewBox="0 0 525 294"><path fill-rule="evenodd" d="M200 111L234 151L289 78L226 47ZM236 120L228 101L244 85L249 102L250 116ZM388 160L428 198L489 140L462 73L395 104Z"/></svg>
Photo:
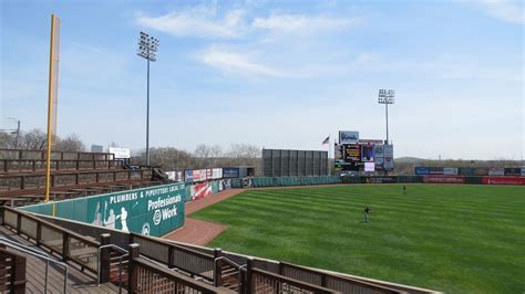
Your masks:
<svg viewBox="0 0 525 294"><path fill-rule="evenodd" d="M511 0L480 0L475 2L478 9L490 17L511 22L525 24L523 2Z"/></svg>

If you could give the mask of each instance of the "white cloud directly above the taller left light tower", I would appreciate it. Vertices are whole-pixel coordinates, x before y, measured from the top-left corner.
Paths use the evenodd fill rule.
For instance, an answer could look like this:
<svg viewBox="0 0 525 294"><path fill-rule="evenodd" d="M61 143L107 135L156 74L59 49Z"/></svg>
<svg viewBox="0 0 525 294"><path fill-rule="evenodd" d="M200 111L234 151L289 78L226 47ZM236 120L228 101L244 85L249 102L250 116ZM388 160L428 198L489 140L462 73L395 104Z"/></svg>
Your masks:
<svg viewBox="0 0 525 294"><path fill-rule="evenodd" d="M230 10L220 18L216 6L198 6L158 18L140 15L136 21L176 36L233 39L244 34L244 14L243 10Z"/></svg>

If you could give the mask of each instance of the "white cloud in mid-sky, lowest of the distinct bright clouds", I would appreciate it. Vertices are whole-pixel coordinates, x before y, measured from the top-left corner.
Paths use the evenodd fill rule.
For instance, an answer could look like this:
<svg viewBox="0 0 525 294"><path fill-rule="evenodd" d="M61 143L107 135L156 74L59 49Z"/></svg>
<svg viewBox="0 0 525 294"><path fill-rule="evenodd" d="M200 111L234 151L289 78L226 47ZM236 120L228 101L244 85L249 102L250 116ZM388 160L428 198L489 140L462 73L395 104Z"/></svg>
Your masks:
<svg viewBox="0 0 525 294"><path fill-rule="evenodd" d="M234 53L218 48L212 48L202 52L197 55L197 60L226 74L282 76L278 71L254 62L245 54Z"/></svg>

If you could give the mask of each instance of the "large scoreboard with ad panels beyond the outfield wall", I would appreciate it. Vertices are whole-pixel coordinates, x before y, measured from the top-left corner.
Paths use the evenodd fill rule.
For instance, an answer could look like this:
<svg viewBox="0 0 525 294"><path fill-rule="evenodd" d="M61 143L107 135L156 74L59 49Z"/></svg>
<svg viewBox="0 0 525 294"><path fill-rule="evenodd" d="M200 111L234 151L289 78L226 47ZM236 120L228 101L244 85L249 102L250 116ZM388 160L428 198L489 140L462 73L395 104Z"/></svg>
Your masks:
<svg viewBox="0 0 525 294"><path fill-rule="evenodd" d="M349 133L349 132L346 132ZM352 132L359 138L359 132ZM341 137L341 135L340 135ZM341 140L334 145L334 169L339 171L393 170L393 146L378 139Z"/></svg>

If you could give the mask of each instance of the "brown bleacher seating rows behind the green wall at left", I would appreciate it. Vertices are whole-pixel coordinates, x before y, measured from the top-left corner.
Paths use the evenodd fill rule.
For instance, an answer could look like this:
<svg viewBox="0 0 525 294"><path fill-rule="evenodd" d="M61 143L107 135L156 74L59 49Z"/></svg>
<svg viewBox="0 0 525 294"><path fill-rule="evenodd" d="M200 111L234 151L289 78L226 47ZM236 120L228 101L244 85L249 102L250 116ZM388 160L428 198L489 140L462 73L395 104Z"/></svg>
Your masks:
<svg viewBox="0 0 525 294"><path fill-rule="evenodd" d="M44 199L47 151L0 149L0 206L24 206ZM63 200L159 185L156 167L132 166L110 153L52 151L50 199Z"/></svg>

